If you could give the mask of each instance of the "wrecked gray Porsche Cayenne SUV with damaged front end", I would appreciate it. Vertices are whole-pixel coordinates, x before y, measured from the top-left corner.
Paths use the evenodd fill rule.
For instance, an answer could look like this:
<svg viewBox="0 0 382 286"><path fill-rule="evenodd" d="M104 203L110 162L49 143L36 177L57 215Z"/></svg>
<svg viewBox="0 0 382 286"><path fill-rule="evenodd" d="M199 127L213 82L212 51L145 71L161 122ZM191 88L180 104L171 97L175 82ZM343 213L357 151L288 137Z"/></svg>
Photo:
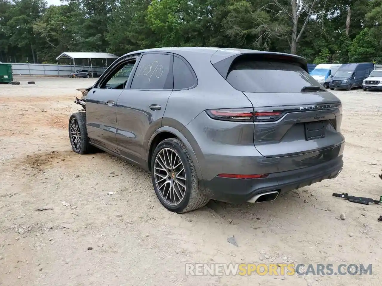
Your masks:
<svg viewBox="0 0 382 286"><path fill-rule="evenodd" d="M155 48L117 59L81 89L74 152L97 147L147 169L159 201L188 212L209 199L272 201L337 177L341 101L295 55Z"/></svg>

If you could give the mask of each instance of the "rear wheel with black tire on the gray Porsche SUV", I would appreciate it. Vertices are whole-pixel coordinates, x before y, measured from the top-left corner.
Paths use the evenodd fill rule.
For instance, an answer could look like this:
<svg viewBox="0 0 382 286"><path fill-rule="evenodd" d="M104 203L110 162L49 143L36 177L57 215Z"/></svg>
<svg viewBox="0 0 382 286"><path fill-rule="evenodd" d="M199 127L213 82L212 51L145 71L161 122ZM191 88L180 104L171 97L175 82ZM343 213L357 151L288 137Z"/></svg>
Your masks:
<svg viewBox="0 0 382 286"><path fill-rule="evenodd" d="M157 198L171 212L189 212L209 202L199 187L194 162L178 138L163 140L155 148L151 178Z"/></svg>

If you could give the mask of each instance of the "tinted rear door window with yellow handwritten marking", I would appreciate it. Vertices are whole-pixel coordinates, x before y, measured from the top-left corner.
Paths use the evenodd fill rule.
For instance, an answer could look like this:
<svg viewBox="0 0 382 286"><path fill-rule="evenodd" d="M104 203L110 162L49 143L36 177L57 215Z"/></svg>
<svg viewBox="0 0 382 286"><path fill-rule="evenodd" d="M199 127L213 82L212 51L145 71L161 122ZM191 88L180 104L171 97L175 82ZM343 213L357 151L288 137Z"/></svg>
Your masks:
<svg viewBox="0 0 382 286"><path fill-rule="evenodd" d="M165 54L142 55L131 88L173 89L172 58Z"/></svg>

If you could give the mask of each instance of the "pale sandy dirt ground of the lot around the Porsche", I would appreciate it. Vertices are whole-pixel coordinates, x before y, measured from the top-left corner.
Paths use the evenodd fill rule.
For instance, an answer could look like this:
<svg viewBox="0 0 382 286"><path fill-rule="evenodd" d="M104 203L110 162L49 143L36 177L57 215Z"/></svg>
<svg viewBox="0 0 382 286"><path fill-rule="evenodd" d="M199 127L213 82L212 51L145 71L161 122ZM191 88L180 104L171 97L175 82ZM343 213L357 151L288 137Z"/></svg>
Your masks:
<svg viewBox="0 0 382 286"><path fill-rule="evenodd" d="M273 203L212 201L178 215L160 205L147 172L71 151L74 90L95 79L18 80L0 85L0 285L380 285L382 206L332 193L382 195L381 92L334 91L346 138L336 179ZM372 264L372 275L186 276L197 262Z"/></svg>

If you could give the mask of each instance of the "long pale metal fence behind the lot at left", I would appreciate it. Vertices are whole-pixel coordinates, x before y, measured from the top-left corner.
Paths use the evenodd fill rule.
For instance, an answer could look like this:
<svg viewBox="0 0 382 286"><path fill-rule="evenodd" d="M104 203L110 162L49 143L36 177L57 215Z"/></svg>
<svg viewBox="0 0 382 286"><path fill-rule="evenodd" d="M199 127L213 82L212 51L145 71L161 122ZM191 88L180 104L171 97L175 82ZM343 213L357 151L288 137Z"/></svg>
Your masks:
<svg viewBox="0 0 382 286"><path fill-rule="evenodd" d="M68 76L71 72L78 69L86 69L97 72L98 76L105 71L106 67L99 66L74 66L63 64L22 64L11 63L14 76Z"/></svg>

